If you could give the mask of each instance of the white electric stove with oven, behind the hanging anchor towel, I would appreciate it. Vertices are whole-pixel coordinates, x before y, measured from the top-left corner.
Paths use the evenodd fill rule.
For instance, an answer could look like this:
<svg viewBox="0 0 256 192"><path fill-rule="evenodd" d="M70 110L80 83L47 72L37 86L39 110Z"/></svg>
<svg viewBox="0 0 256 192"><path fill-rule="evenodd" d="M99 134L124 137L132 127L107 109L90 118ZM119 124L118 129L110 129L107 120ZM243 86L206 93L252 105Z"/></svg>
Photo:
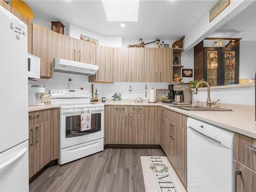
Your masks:
<svg viewBox="0 0 256 192"><path fill-rule="evenodd" d="M90 103L85 90L51 89L52 104L60 105L60 164L103 151L104 105ZM80 131L82 110L92 109L91 129Z"/></svg>

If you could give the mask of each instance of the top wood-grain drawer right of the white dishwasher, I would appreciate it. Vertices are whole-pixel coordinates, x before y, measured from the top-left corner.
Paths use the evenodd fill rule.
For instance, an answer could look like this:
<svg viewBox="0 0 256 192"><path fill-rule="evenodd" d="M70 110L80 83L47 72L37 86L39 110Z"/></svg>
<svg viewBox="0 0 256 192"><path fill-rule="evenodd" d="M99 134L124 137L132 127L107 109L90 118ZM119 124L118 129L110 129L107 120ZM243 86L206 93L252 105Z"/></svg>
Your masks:
<svg viewBox="0 0 256 192"><path fill-rule="evenodd" d="M256 171L256 140L234 134L234 159Z"/></svg>

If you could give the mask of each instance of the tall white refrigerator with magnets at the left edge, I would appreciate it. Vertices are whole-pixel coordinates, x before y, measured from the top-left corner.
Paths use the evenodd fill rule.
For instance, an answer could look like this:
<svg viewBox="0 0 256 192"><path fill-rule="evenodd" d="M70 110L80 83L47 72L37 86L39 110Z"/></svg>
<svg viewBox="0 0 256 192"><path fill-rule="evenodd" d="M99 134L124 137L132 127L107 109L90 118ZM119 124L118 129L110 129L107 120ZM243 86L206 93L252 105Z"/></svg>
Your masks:
<svg viewBox="0 0 256 192"><path fill-rule="evenodd" d="M27 25L0 6L0 191L29 191Z"/></svg>

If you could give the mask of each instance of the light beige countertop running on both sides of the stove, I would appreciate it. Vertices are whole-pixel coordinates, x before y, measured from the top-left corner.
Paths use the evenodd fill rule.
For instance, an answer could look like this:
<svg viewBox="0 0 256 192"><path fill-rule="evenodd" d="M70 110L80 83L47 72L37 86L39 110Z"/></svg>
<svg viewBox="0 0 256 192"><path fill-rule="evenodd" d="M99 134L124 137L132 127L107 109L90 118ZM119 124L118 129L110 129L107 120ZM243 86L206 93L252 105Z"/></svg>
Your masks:
<svg viewBox="0 0 256 192"><path fill-rule="evenodd" d="M101 102L98 102L101 103ZM256 121L254 113L244 111L185 111L172 106L169 103L135 103L132 101L106 101L104 105L141 105L162 106L166 109L176 111L189 117L222 127L231 132L239 133L256 139ZM29 106L29 112L59 108L59 105Z"/></svg>

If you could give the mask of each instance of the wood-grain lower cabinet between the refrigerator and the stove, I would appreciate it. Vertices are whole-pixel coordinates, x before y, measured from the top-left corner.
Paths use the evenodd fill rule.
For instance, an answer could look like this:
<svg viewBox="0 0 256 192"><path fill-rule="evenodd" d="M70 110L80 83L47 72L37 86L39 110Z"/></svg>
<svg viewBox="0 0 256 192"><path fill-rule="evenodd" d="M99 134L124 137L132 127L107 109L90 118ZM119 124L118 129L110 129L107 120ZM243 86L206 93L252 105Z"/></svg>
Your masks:
<svg viewBox="0 0 256 192"><path fill-rule="evenodd" d="M29 178L59 159L59 109L29 113Z"/></svg>

